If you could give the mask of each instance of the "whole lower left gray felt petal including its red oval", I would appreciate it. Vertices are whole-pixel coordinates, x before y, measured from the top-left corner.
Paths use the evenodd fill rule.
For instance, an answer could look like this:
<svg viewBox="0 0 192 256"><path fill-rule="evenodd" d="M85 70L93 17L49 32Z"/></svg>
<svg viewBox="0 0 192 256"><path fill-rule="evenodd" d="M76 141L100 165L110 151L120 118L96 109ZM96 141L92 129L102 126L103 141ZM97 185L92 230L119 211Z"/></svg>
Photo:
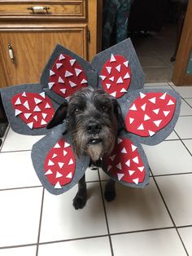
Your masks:
<svg viewBox="0 0 192 256"><path fill-rule="evenodd" d="M64 130L65 123L56 126L33 145L31 153L38 178L47 191L55 195L72 188L89 166L89 157L75 157L70 146L71 137L62 135Z"/></svg>

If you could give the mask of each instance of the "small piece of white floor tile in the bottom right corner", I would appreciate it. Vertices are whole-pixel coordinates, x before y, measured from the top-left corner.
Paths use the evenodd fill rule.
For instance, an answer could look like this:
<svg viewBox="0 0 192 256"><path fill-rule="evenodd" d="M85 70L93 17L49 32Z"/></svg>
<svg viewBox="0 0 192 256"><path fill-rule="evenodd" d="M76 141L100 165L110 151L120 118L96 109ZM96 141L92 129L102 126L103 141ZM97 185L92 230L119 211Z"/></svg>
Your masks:
<svg viewBox="0 0 192 256"><path fill-rule="evenodd" d="M183 227L178 228L178 232L180 233L181 239L184 242L185 248L188 254L192 255L192 227Z"/></svg>

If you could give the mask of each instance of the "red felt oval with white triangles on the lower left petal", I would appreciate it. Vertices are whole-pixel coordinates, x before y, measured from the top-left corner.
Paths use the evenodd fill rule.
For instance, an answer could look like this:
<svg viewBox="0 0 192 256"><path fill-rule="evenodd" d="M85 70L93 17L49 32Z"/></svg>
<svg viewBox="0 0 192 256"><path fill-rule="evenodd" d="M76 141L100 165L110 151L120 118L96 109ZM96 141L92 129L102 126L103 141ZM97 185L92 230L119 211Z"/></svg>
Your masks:
<svg viewBox="0 0 192 256"><path fill-rule="evenodd" d="M60 188L72 181L75 170L76 160L71 146L64 139L59 139L46 155L46 178L52 185L56 185L56 188Z"/></svg>

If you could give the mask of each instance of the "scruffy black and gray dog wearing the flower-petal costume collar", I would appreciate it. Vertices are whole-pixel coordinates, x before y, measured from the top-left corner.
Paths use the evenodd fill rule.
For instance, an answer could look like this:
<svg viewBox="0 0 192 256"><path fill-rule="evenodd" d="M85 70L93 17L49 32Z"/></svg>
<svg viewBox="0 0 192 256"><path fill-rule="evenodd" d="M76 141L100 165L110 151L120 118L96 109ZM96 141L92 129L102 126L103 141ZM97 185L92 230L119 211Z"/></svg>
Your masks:
<svg viewBox="0 0 192 256"><path fill-rule="evenodd" d="M87 155L90 164L101 167L102 159L111 154L117 135L124 129L120 105L115 98L101 89L90 87L77 90L59 106L47 129L67 122L67 131L72 135L72 149L76 157ZM113 201L116 197L115 181L109 179L104 197ZM78 182L78 191L73 199L76 210L82 209L87 201L85 175Z"/></svg>

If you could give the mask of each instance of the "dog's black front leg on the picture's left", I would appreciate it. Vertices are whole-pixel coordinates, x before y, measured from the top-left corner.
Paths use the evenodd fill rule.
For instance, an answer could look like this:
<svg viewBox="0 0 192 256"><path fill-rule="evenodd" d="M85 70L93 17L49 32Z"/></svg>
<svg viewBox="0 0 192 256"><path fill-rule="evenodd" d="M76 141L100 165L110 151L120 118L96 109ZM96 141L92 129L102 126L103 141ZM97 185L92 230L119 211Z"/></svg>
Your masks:
<svg viewBox="0 0 192 256"><path fill-rule="evenodd" d="M78 182L78 191L73 199L73 206L76 210L82 209L87 201L87 189L85 183L85 174Z"/></svg>

